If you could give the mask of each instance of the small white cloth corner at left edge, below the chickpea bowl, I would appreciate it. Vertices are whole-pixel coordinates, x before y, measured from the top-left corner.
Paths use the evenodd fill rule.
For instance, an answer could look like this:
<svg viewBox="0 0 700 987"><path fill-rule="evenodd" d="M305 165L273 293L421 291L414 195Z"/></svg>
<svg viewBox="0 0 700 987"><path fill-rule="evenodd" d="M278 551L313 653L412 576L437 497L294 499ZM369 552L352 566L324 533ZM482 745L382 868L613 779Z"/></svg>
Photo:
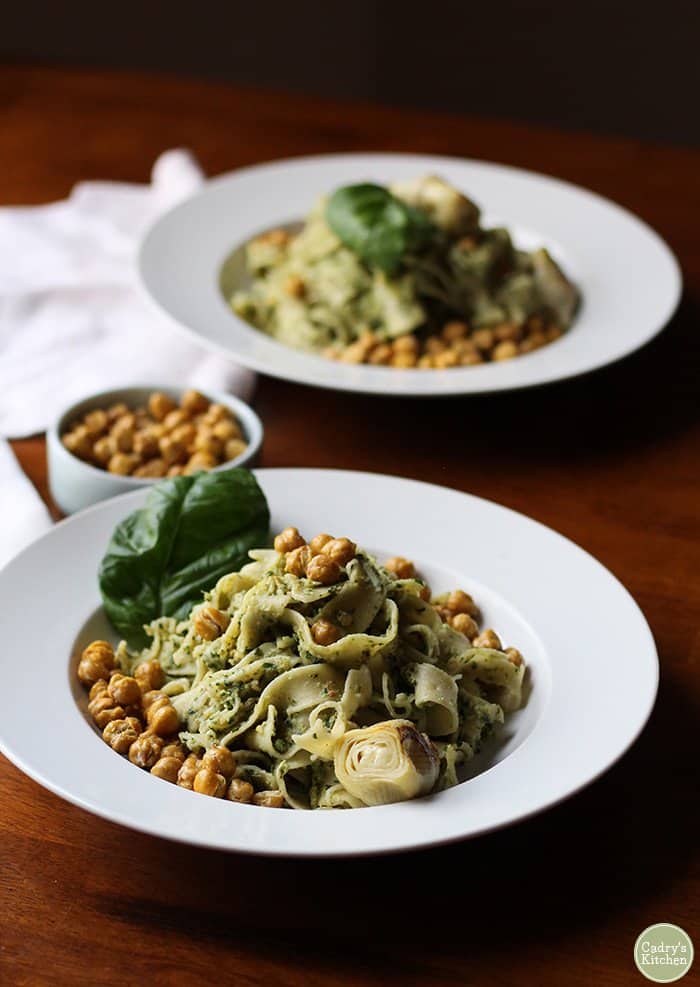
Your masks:
<svg viewBox="0 0 700 987"><path fill-rule="evenodd" d="M20 469L4 439L0 439L0 568L29 542L51 527L51 516Z"/></svg>

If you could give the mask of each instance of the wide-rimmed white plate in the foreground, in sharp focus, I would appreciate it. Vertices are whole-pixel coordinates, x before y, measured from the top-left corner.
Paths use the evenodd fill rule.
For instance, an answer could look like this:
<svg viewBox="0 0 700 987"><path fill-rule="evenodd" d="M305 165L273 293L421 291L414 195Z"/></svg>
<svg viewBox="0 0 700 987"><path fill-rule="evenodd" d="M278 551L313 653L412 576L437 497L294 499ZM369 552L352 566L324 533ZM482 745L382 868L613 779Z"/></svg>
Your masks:
<svg viewBox="0 0 700 987"><path fill-rule="evenodd" d="M138 491L57 525L0 572L0 749L40 784L106 819L187 843L376 853L523 819L592 781L634 741L656 694L654 642L627 591L590 555L520 514L443 487L335 470L256 475L273 530L347 534L382 557L413 558L435 591L473 593L485 626L525 655L525 707L472 762L469 780L397 805L265 809L140 771L95 732L75 675L79 650L110 635L97 566L115 524L143 502ZM592 620L604 633L591 633Z"/></svg>

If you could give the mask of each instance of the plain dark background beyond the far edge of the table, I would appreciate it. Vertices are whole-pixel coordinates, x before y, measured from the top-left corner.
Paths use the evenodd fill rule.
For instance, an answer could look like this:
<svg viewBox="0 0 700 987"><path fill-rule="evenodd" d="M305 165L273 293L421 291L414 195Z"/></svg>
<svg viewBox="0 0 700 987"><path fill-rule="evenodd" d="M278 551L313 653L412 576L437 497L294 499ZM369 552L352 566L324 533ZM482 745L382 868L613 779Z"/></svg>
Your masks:
<svg viewBox="0 0 700 987"><path fill-rule="evenodd" d="M200 75L700 143L698 0L15 0L2 12L0 61Z"/></svg>

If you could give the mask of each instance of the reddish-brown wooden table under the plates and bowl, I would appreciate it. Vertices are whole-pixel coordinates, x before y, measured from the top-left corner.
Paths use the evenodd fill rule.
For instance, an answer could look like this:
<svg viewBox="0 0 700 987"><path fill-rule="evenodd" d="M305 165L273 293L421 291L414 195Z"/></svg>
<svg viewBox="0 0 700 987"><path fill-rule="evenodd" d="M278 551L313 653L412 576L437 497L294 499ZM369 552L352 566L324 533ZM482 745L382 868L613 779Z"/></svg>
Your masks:
<svg viewBox="0 0 700 987"><path fill-rule="evenodd" d="M505 161L609 195L668 239L686 277L681 310L619 366L492 398L352 397L261 378L255 399L264 466L447 484L588 549L651 624L659 700L634 749L566 804L493 836L367 861L268 861L140 836L0 760L0 982L643 983L632 946L647 925L675 922L700 947L700 152L190 80L0 70L2 203L62 198L85 178L145 181L177 145L209 173L368 149ZM43 440L15 448L46 495ZM580 610L572 633L604 649L605 624L586 600Z"/></svg>

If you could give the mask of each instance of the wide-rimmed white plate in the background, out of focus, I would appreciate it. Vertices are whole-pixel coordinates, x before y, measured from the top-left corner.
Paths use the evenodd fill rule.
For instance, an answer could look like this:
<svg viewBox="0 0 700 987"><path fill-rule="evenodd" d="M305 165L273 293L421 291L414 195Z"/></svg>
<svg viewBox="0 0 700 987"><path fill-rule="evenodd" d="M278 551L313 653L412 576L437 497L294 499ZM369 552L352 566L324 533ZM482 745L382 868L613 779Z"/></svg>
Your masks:
<svg viewBox="0 0 700 987"><path fill-rule="evenodd" d="M235 315L224 262L251 237L301 220L323 193L359 181L438 174L471 196L484 222L506 224L518 246L544 245L579 285L570 332L527 356L446 370L348 366L291 349ZM227 268L242 270L241 257ZM566 182L503 165L409 154L339 154L259 165L208 182L147 233L139 271L173 324L239 363L320 387L445 395L530 387L595 370L652 339L678 303L678 264L631 213Z"/></svg>

